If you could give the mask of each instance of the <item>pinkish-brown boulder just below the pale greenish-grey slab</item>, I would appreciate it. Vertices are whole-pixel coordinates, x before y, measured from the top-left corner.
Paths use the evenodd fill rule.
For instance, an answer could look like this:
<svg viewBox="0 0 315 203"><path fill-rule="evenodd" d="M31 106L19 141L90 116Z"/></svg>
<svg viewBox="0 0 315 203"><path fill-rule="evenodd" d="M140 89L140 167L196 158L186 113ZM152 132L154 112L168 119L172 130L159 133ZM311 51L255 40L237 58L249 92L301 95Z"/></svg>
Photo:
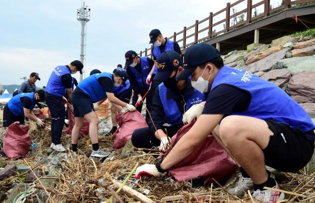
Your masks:
<svg viewBox="0 0 315 203"><path fill-rule="evenodd" d="M263 78L279 87L282 87L291 78L291 72L286 68L274 69L266 72L260 78Z"/></svg>

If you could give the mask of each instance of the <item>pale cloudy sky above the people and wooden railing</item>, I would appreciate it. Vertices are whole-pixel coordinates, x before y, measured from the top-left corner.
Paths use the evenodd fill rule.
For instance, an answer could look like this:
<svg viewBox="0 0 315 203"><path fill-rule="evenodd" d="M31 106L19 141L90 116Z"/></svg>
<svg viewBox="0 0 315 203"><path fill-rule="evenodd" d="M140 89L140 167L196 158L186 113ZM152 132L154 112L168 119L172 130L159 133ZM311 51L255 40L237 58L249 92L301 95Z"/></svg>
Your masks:
<svg viewBox="0 0 315 203"><path fill-rule="evenodd" d="M91 7L87 23L86 76L92 69L112 71L128 50L149 48L149 32L179 32L235 0L85 0ZM80 60L81 0L0 0L0 84L38 72L47 85L53 68ZM79 73L75 74L79 79Z"/></svg>

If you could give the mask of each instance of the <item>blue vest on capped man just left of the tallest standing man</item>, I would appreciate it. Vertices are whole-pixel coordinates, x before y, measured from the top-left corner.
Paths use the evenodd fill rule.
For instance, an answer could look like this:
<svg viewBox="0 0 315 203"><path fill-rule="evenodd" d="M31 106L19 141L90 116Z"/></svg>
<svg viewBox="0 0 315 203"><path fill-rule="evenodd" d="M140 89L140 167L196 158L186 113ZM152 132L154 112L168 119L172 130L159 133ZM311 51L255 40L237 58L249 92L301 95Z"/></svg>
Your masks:
<svg viewBox="0 0 315 203"><path fill-rule="evenodd" d="M135 80L137 81L138 86L143 88L149 88L149 85L147 84L146 80L149 75L149 72L152 67L149 67L149 62L147 57L140 57L141 61L141 73L136 68L129 67L131 72L133 73Z"/></svg>

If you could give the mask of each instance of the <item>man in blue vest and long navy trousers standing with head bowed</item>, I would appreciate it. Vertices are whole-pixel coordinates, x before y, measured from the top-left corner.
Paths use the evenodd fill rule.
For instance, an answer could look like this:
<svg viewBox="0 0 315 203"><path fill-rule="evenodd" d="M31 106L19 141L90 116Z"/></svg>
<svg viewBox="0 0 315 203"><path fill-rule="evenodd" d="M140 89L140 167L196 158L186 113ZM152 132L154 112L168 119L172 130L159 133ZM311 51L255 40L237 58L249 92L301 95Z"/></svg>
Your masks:
<svg viewBox="0 0 315 203"><path fill-rule="evenodd" d="M51 114L51 145L50 148L65 152L66 149L61 144L62 129L65 122L65 105L63 96L65 89L67 91L68 100L71 101L72 95L72 77L80 71L82 74L83 64L81 61L72 61L66 66L57 66L53 69L48 83L46 85L46 103ZM66 100L66 98L65 98Z"/></svg>

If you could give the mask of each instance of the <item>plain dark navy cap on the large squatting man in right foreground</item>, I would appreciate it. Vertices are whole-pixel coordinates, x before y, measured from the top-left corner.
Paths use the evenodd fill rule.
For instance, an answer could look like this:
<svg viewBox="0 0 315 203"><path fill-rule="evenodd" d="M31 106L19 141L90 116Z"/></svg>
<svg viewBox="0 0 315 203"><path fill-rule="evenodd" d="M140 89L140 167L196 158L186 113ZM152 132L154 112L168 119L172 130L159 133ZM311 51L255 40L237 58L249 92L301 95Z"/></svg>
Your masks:
<svg viewBox="0 0 315 203"><path fill-rule="evenodd" d="M217 57L220 57L220 51L210 44L198 43L193 44L187 49L184 55L184 69L176 76L177 80L187 79L194 70L201 64L209 62Z"/></svg>

